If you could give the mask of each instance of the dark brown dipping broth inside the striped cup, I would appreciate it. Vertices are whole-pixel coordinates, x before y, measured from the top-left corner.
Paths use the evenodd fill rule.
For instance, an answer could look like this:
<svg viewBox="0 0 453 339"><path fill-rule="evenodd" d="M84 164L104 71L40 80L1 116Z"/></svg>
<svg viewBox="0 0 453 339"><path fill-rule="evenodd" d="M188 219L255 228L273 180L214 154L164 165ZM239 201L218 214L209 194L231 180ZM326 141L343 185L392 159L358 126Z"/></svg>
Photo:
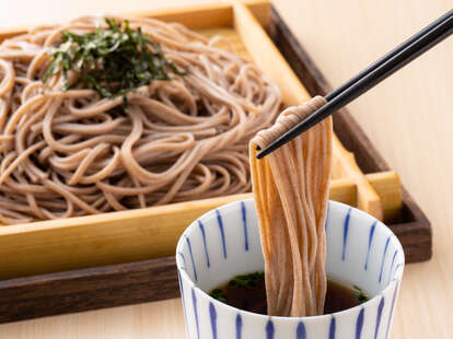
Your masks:
<svg viewBox="0 0 453 339"><path fill-rule="evenodd" d="M224 285L213 289L209 295L230 306L267 315L264 272L237 276ZM351 308L369 300L359 287L328 279L324 314Z"/></svg>

